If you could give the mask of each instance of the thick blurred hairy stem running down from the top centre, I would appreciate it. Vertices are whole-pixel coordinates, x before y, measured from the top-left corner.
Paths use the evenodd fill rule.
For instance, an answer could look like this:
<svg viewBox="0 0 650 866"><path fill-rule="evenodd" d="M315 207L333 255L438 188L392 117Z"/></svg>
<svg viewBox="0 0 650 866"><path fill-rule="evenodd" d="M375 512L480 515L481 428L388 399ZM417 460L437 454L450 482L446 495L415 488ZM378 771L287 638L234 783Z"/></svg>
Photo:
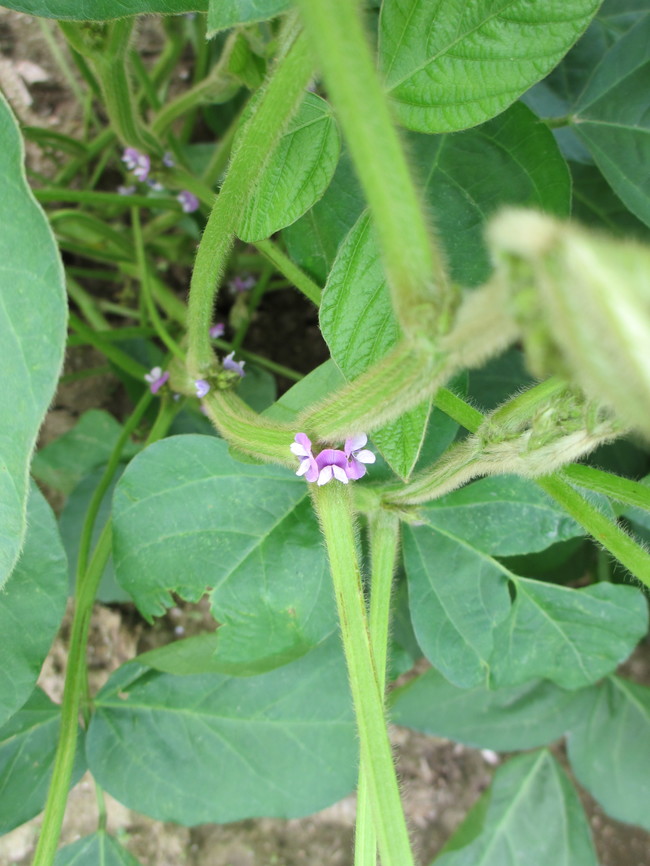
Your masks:
<svg viewBox="0 0 650 866"><path fill-rule="evenodd" d="M395 129L357 0L298 0L379 235L405 336L446 328L450 286ZM440 316L443 316L440 319Z"/></svg>

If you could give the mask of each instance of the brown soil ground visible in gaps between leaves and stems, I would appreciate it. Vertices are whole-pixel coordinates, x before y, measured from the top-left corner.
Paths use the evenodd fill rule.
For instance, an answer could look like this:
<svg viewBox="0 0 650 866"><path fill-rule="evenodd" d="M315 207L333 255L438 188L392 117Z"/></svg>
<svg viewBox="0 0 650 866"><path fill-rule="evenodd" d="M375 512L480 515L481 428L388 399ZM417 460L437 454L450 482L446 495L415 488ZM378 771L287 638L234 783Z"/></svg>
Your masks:
<svg viewBox="0 0 650 866"><path fill-rule="evenodd" d="M55 33L50 23L43 26ZM143 26L141 38L148 50L155 50L158 34L153 20ZM0 10L0 86L23 123L74 133L80 122L78 104L52 60L42 26L5 10ZM38 152L28 152L32 167L46 171L38 161ZM269 296L251 330L251 348L257 348L257 335L268 350L269 334L274 335L274 360L280 363L307 371L325 357L314 313L308 306L297 309L295 295L275 292ZM66 371L99 363L102 359L93 357L93 350L76 350L68 358ZM70 429L89 408L106 408L120 417L121 399L118 383L110 375L62 386L44 425L41 443ZM56 496L50 500L55 509L60 508L62 503ZM204 615L205 607L200 604L179 606L150 629L130 605L97 605L89 644L93 690L138 652L196 633ZM55 700L60 700L62 693L68 627L66 620L40 680ZM627 667L634 679L650 683L648 647ZM502 758L400 728L392 730L392 740L412 837L424 866L489 784ZM562 757L560 746L556 752ZM601 866L650 866L650 834L611 820L586 794L583 799ZM107 806L109 830L143 866L352 866L353 796L301 820L259 819L194 828L161 824L129 811L110 797ZM0 839L0 866L27 866L31 862L39 825L40 818L36 818ZM73 842L96 827L93 784L85 776L71 793L62 842Z"/></svg>

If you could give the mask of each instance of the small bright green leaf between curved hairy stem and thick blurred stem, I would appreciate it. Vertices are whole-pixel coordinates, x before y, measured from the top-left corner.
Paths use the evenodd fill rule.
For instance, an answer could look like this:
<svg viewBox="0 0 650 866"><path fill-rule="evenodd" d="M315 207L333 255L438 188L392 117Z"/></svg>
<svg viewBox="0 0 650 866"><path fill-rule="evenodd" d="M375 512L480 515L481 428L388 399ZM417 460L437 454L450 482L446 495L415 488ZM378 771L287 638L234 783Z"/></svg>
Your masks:
<svg viewBox="0 0 650 866"><path fill-rule="evenodd" d="M259 241L295 222L327 189L339 151L339 133L329 105L320 96L306 93L269 157L235 226L236 234L244 241Z"/></svg>

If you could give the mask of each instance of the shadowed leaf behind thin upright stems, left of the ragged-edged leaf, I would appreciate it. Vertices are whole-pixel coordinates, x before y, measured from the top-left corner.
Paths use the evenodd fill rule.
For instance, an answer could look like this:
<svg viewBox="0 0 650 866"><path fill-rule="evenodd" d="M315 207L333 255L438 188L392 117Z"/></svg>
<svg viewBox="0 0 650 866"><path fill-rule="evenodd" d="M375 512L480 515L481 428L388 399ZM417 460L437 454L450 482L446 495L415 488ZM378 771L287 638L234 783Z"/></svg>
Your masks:
<svg viewBox="0 0 650 866"><path fill-rule="evenodd" d="M97 513L97 517L95 519L95 524L93 526L93 532L91 536L91 549L94 549L95 544L99 541L99 536L101 535L101 532L106 525L106 521L111 515L111 501L113 498L113 491L115 490L115 485L117 484L117 481L122 474L122 471L123 467L119 467L117 469L115 476L113 477L106 493L104 494L104 498L102 499L99 511ZM95 489L99 484L103 474L104 470L98 469L96 472L92 472L90 475L80 481L68 497L65 505L63 506L61 516L59 517L59 532L61 533L61 540L63 541L63 546L65 547L65 552L68 558L68 572L71 587L74 587L74 581L77 574L77 560L79 558L81 530L86 519L86 514L88 513L88 506L90 505L90 500L92 499ZM104 572L102 574L96 597L99 601L103 601L108 604L115 601L131 601L131 596L128 594L128 592L122 589L122 587L115 579L113 558L110 556L106 565L104 566Z"/></svg>

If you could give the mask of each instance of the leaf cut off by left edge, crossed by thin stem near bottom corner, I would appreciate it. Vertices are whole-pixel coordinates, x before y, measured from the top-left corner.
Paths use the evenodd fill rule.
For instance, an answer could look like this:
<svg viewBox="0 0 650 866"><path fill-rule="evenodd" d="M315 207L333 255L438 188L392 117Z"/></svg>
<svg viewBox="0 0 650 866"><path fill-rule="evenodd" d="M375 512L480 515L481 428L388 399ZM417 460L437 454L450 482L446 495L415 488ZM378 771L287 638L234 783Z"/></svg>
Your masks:
<svg viewBox="0 0 650 866"><path fill-rule="evenodd" d="M0 728L0 834L29 821L45 805L60 723L61 707L35 689ZM85 770L80 732L71 786Z"/></svg>

